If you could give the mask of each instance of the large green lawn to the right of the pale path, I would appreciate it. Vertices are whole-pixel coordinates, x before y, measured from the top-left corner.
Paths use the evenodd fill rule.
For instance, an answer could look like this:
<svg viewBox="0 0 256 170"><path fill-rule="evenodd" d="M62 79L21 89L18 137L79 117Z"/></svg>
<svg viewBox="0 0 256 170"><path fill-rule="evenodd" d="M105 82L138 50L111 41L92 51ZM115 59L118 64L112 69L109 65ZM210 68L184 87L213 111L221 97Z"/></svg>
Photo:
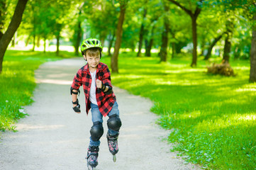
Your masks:
<svg viewBox="0 0 256 170"><path fill-rule="evenodd" d="M157 123L173 130L168 140L187 162L204 169L256 169L256 84L248 83L250 62L230 62L236 77L207 74L210 64L201 58L196 68L190 63L190 56L160 63L157 57L121 55L112 84L154 102Z"/></svg>

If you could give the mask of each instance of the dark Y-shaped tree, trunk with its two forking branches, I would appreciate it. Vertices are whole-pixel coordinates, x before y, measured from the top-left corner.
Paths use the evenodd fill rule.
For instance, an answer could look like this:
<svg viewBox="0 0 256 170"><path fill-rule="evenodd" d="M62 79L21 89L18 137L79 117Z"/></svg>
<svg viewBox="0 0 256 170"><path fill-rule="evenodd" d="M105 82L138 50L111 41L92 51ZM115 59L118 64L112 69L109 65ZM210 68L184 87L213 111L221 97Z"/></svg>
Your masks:
<svg viewBox="0 0 256 170"><path fill-rule="evenodd" d="M171 1L173 4L179 6L179 8L182 8L182 10L184 10L191 17L192 37L193 37L193 58L192 58L191 67L195 67L196 62L197 62L196 19L199 16L199 13L201 12L201 3L202 3L203 0L199 0L199 1L196 2L196 9L194 11L193 11L193 9L186 8L185 6L183 6L182 4L180 4L179 2L177 2L175 0L169 0L169 1Z"/></svg>

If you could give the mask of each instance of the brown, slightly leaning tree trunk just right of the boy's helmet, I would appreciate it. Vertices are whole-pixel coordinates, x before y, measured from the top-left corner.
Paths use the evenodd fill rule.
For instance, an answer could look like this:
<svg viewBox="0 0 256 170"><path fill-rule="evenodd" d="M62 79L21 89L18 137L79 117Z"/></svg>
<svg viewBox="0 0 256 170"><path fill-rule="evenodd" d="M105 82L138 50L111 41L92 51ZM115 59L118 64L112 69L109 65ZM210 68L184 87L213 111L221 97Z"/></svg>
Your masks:
<svg viewBox="0 0 256 170"><path fill-rule="evenodd" d="M118 18L118 25L116 30L116 43L113 56L111 57L111 69L113 73L118 73L118 54L121 47L122 35L123 35L123 21L126 14L126 4L120 6L120 16Z"/></svg>

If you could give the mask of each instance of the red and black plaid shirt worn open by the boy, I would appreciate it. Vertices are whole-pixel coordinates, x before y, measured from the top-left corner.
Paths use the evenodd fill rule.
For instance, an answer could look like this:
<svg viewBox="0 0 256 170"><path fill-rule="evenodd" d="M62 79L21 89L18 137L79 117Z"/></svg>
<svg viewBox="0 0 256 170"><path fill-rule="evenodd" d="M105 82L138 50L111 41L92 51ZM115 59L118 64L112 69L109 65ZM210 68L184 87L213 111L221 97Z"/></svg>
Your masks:
<svg viewBox="0 0 256 170"><path fill-rule="evenodd" d="M98 68L96 70L96 79L99 79L106 86L111 86L111 77L108 66L102 62L98 64ZM95 80L96 81L96 80ZM89 101L89 91L91 87L91 74L89 72L88 64L84 65L81 69L78 70L77 75L73 79L72 88L79 89L80 86L83 85L84 88L84 96L85 103L87 107L87 115L91 108L91 101ZM96 101L99 107L99 111L104 117L108 115L108 113L113 108L113 103L116 101L116 95L111 91L110 94L106 94L101 89L96 88Z"/></svg>

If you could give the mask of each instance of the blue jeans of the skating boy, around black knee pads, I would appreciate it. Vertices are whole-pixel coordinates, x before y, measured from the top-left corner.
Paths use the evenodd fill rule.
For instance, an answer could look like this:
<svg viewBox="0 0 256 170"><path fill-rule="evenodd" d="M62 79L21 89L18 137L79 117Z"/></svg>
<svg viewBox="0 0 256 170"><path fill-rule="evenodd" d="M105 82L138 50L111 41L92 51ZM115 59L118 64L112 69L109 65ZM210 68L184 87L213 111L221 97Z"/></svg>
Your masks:
<svg viewBox="0 0 256 170"><path fill-rule="evenodd" d="M113 103L113 108L108 113L108 118L109 118L109 116L114 115L114 114L116 114L119 118L118 103L116 103L116 102ZM92 122L95 123L95 122L99 121L100 123L103 123L102 117L103 117L103 115L99 112L99 107L97 105L91 103L91 120L92 120ZM113 136L113 135L118 134L118 131L108 129L108 134ZM89 143L90 146L99 146L100 144L101 144L100 141L94 141L90 137L90 143Z"/></svg>

